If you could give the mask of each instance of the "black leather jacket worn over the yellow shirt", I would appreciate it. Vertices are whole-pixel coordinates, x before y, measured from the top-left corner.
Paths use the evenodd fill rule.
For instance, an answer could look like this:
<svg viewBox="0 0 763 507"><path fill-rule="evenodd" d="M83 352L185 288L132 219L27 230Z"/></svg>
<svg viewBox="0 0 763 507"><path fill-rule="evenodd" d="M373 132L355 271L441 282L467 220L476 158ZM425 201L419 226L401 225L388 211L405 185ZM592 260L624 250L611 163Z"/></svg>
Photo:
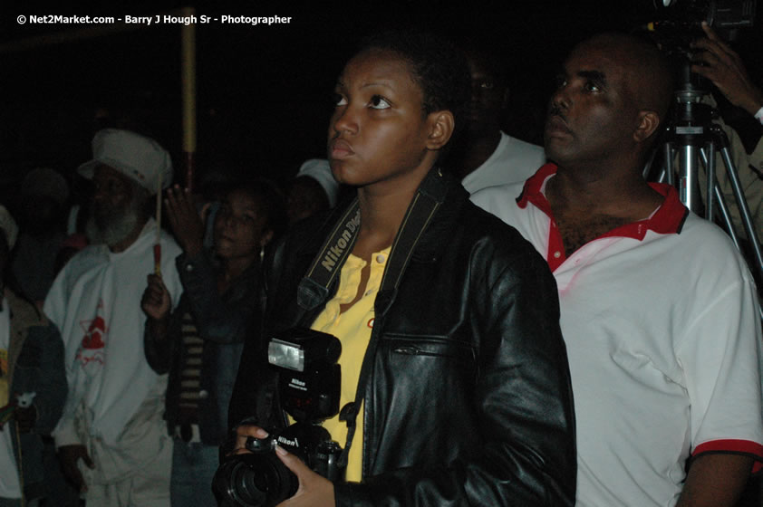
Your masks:
<svg viewBox="0 0 763 507"><path fill-rule="evenodd" d="M334 283L310 310L297 304L297 286L336 215L298 226L276 249L264 338L309 327L336 291ZM572 389L555 281L536 250L449 181L398 290L381 297L363 480L335 484L336 504L573 505ZM246 344L233 425L286 423L265 341Z"/></svg>

